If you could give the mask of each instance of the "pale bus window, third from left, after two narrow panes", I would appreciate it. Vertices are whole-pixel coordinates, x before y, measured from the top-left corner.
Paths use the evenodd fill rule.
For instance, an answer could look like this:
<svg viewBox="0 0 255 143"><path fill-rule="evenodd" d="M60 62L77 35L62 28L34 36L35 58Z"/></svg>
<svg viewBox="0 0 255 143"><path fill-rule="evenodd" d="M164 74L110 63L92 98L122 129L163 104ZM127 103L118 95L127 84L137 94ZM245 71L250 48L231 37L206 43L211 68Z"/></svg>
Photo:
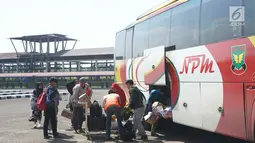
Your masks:
<svg viewBox="0 0 255 143"><path fill-rule="evenodd" d="M148 49L149 44L149 20L135 26L133 40L133 58L143 56L143 51Z"/></svg>

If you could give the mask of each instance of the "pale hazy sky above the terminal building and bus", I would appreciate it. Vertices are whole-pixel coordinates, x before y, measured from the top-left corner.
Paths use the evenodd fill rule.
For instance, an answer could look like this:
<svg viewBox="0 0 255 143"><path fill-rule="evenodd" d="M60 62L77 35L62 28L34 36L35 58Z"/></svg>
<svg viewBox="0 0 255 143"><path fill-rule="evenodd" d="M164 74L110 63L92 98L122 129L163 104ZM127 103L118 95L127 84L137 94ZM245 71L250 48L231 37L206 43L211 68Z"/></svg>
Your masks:
<svg viewBox="0 0 255 143"><path fill-rule="evenodd" d="M114 46L117 31L164 1L0 0L0 52L14 52L8 37L48 33L80 40L76 48Z"/></svg>

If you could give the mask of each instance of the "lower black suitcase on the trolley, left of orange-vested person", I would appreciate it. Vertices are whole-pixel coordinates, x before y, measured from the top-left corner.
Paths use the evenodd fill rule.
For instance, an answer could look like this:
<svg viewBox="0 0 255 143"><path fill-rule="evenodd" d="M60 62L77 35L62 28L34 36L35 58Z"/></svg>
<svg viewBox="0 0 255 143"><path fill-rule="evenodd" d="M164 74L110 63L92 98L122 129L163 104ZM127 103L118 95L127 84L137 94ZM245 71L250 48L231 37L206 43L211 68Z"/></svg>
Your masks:
<svg viewBox="0 0 255 143"><path fill-rule="evenodd" d="M88 116L87 126L89 131L104 131L106 129L106 117L102 115L101 117Z"/></svg>

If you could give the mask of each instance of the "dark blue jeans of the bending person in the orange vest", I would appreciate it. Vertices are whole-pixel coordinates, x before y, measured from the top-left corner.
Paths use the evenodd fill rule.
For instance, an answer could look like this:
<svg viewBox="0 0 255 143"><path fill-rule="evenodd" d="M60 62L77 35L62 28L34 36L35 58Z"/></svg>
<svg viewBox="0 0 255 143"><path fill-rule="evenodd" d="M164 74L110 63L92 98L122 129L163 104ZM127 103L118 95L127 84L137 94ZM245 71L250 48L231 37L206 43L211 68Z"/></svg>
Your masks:
<svg viewBox="0 0 255 143"><path fill-rule="evenodd" d="M106 111L106 137L110 138L111 136L111 122L112 122L112 115L114 114L117 118L118 122L118 131L119 134L121 133L122 123L121 123L121 115L120 115L121 108L117 106L110 106Z"/></svg>

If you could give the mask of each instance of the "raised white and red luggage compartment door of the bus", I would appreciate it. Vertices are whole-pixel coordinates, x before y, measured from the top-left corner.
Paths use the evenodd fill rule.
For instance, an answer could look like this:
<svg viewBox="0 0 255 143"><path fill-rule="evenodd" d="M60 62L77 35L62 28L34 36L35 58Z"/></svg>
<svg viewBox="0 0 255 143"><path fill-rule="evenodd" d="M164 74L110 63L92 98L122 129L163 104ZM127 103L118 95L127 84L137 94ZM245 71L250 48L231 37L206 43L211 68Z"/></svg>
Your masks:
<svg viewBox="0 0 255 143"><path fill-rule="evenodd" d="M166 85L165 80L165 46L144 50L146 62L144 82L146 85Z"/></svg>

